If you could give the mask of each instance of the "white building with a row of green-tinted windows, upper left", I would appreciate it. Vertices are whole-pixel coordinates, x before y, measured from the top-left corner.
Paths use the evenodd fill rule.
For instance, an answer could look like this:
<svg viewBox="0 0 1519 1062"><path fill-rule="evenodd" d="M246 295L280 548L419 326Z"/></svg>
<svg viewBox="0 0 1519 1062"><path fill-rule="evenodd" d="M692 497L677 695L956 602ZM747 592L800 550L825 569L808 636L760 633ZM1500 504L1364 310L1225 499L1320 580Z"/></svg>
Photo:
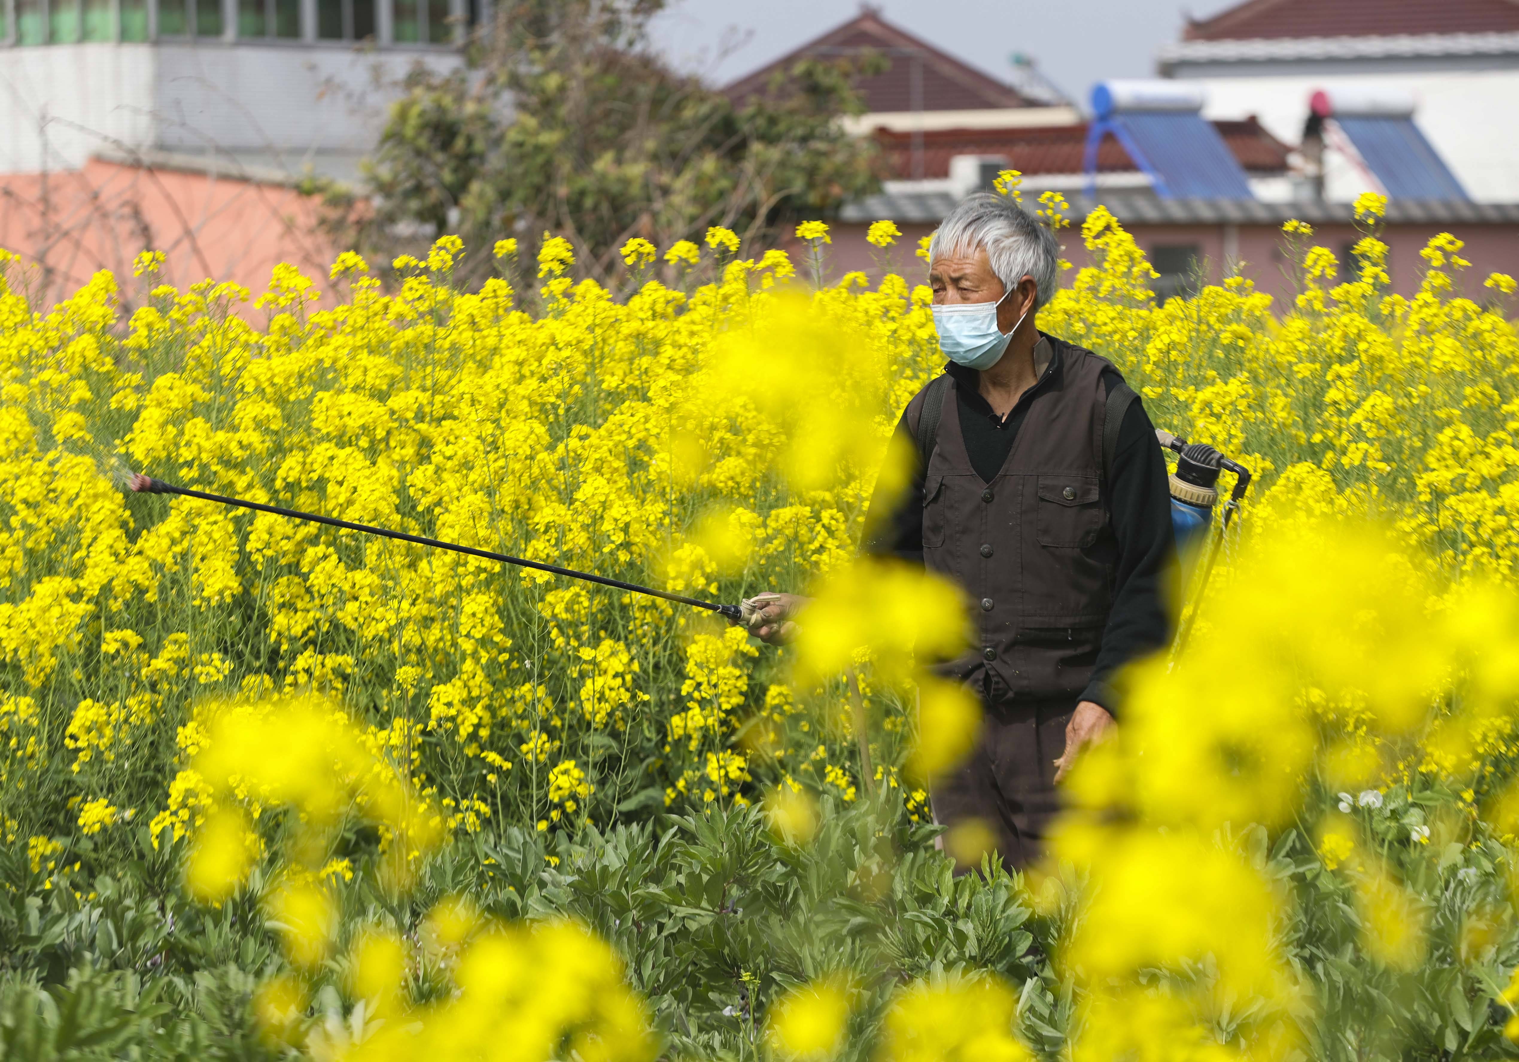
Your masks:
<svg viewBox="0 0 1519 1062"><path fill-rule="evenodd" d="M0 0L0 173L91 156L351 176L482 0Z"/></svg>

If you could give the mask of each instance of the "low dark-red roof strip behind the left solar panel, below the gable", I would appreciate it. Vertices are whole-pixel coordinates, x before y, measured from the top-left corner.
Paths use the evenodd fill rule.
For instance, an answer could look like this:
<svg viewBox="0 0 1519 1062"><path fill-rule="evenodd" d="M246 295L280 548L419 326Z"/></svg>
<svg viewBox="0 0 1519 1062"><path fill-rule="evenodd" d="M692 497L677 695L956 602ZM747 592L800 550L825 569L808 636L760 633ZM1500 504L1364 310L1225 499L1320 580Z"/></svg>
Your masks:
<svg viewBox="0 0 1519 1062"><path fill-rule="evenodd" d="M1250 173L1282 173L1291 150L1261 128L1253 117L1243 122L1214 122L1235 158ZM893 178L913 173L913 134L875 131ZM1086 125L1042 126L1034 129L933 129L922 134L925 178L949 176L954 155L1006 155L1009 166L1030 176L1039 173L1080 173L1086 152ZM1100 173L1138 170L1123 144L1110 135L1097 149Z"/></svg>

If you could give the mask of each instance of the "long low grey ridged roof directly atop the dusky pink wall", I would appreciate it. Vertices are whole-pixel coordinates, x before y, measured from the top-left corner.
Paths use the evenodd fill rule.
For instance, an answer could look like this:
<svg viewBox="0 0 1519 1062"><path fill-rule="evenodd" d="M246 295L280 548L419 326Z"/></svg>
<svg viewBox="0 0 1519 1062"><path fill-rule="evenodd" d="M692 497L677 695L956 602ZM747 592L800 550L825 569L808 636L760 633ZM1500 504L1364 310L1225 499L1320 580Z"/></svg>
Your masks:
<svg viewBox="0 0 1519 1062"><path fill-rule="evenodd" d="M842 222L881 219L934 225L958 202L949 193L878 194L848 204ZM1274 204L1255 199L1159 199L1145 193L1109 193L1101 199L1075 196L1071 219L1107 207L1124 225L1282 225L1296 217L1311 225L1349 225L1350 204ZM1388 225L1519 225L1519 204L1475 204L1455 199L1393 199L1387 204Z"/></svg>

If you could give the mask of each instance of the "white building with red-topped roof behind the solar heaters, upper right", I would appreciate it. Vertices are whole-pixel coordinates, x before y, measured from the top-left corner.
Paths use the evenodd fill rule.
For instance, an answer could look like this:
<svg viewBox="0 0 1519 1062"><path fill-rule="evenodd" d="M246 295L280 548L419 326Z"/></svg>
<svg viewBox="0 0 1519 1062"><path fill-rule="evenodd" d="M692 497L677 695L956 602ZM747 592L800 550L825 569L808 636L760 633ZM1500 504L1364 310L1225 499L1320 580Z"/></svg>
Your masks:
<svg viewBox="0 0 1519 1062"><path fill-rule="evenodd" d="M1408 97L1413 120L1478 202L1519 202L1519 3L1511 0L1246 0L1194 21L1157 56L1202 82L1206 117L1259 117L1303 141L1315 93ZM1325 160L1325 196L1375 187Z"/></svg>

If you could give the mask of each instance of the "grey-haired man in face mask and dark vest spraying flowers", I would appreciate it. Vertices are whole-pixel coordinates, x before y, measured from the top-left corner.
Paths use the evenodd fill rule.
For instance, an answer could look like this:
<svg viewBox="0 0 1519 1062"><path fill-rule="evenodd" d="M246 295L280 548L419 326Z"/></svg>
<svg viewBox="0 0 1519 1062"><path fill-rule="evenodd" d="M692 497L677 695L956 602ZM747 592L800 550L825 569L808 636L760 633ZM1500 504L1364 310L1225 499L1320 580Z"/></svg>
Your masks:
<svg viewBox="0 0 1519 1062"><path fill-rule="evenodd" d="M978 644L943 670L981 697L981 737L933 810L990 827L1009 868L1037 858L1056 784L1121 716L1115 672L1170 637L1165 460L1118 371L1037 330L1059 254L1003 196L965 199L934 232L949 363L896 427L917 456L910 489L878 494L866 521L869 552L925 564L972 602ZM785 641L805 605L769 596L750 631Z"/></svg>

